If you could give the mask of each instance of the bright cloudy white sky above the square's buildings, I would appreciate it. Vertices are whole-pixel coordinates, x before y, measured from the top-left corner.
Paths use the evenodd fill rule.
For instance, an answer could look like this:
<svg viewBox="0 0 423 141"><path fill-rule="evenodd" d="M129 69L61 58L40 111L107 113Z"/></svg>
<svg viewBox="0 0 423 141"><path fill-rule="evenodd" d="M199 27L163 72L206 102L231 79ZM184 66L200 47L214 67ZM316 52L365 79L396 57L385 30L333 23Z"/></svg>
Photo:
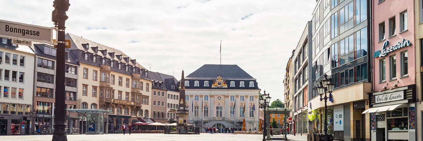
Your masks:
<svg viewBox="0 0 423 141"><path fill-rule="evenodd" d="M181 78L203 64L237 64L283 100L288 58L316 0L69 0L66 32L122 50ZM0 0L0 19L54 26L53 0Z"/></svg>

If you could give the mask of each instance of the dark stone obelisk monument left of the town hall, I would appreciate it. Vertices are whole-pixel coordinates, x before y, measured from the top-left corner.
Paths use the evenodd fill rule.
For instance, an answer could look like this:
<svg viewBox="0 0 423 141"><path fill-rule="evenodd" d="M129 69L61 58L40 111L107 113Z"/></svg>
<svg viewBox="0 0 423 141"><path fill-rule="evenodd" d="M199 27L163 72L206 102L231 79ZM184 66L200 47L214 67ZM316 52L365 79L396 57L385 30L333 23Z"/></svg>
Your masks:
<svg viewBox="0 0 423 141"><path fill-rule="evenodd" d="M185 105L185 78L184 70L182 70L181 82L179 83L179 109L176 111L177 123L176 129L178 133L188 133L188 109Z"/></svg>

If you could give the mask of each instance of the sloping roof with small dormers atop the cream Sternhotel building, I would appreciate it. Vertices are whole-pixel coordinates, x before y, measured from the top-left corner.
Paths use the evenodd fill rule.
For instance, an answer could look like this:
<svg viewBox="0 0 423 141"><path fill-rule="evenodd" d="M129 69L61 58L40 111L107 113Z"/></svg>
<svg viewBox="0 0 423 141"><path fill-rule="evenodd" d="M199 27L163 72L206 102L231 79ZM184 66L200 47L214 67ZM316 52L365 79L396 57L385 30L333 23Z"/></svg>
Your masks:
<svg viewBox="0 0 423 141"><path fill-rule="evenodd" d="M126 55L124 52L117 50L117 49L114 49L113 47L107 47L103 44L99 44L95 41L91 41L91 40L82 38L80 36L76 36L76 35L71 34L71 33L66 33L65 36L66 36L66 39L71 39L71 49L70 50L82 50L84 52L99 55L99 56L102 56L102 57L105 57L105 58L108 58L108 59L113 59L115 61L122 62L124 64L129 64L131 66L136 66L136 67L141 68L141 69L146 69L143 66L141 66L140 64L138 64L137 62L135 62L135 64L134 64L131 61L131 60L134 60L134 59L129 58L129 56ZM88 49L82 47L82 44L89 44ZM98 51L94 51L93 47L98 47ZM105 55L102 54L102 50L107 50L107 53ZM113 56L110 55L112 52L115 53ZM118 59L117 55L122 55L122 59ZM126 61L124 58L129 58L129 60ZM84 62L84 58L83 57L79 57L79 58L77 57L77 61L78 62L79 61Z"/></svg>

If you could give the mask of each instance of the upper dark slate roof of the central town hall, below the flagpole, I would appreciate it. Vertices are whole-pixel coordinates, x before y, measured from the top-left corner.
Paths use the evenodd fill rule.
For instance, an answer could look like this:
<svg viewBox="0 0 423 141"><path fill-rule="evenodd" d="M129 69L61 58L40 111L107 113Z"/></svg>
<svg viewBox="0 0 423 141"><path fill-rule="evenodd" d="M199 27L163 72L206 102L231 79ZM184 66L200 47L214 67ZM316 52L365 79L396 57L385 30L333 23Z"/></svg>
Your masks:
<svg viewBox="0 0 423 141"><path fill-rule="evenodd" d="M238 65L205 64L186 76L185 79L216 79L221 75L223 79L255 80Z"/></svg>

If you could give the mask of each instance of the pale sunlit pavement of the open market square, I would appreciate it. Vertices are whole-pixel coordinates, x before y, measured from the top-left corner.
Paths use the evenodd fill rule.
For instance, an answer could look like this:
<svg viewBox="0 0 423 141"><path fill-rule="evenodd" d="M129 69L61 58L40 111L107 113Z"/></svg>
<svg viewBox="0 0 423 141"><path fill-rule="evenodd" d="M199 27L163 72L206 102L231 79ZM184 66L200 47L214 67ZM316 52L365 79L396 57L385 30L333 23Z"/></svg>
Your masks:
<svg viewBox="0 0 423 141"><path fill-rule="evenodd" d="M68 135L68 141L261 141L263 135L209 134L104 134L104 135ZM306 135L287 135L290 141L307 141ZM7 135L0 136L0 141L51 141L52 135Z"/></svg>

